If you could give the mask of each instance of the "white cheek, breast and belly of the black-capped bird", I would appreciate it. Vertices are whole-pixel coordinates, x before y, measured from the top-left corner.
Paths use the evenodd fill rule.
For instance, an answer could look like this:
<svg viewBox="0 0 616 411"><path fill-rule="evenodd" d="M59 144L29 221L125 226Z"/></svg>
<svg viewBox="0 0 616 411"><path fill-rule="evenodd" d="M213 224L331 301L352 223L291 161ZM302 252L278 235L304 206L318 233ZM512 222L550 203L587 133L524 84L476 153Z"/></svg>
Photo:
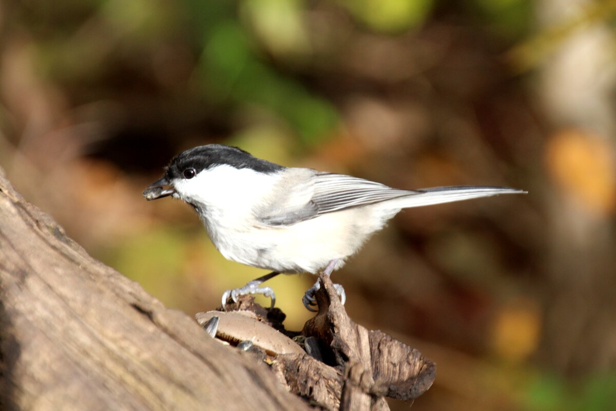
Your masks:
<svg viewBox="0 0 616 411"><path fill-rule="evenodd" d="M198 205L209 237L225 258L277 272L316 273L333 259L341 260L338 268L397 212L373 213L368 206L290 226L265 226L253 212L271 203L266 199L279 182L279 174L222 165L174 185L182 200Z"/></svg>

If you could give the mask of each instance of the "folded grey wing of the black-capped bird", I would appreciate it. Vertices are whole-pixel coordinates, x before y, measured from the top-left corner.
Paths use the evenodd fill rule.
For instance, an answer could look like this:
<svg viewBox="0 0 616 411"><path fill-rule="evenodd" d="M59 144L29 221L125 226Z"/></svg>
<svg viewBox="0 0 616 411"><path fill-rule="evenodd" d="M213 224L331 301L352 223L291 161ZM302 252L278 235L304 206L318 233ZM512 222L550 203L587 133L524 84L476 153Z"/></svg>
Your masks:
<svg viewBox="0 0 616 411"><path fill-rule="evenodd" d="M378 182L368 181L343 174L318 173L301 179L290 178L293 184L282 184L270 204L257 213L257 219L270 226L283 226L315 218L320 214L333 213L347 208L359 207L404 197L415 192L397 190Z"/></svg>

